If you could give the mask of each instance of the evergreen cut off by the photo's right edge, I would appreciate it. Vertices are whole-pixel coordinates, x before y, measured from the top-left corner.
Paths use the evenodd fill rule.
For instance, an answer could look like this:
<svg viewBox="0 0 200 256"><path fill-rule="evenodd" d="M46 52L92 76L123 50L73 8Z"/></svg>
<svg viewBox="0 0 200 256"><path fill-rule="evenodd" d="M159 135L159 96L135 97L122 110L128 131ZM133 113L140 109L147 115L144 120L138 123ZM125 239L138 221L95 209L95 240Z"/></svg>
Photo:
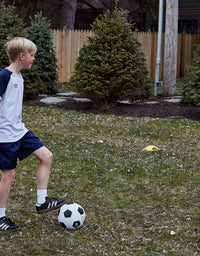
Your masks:
<svg viewBox="0 0 200 256"><path fill-rule="evenodd" d="M195 105L200 104L200 45L198 45L189 66L186 81L183 86L182 101Z"/></svg>

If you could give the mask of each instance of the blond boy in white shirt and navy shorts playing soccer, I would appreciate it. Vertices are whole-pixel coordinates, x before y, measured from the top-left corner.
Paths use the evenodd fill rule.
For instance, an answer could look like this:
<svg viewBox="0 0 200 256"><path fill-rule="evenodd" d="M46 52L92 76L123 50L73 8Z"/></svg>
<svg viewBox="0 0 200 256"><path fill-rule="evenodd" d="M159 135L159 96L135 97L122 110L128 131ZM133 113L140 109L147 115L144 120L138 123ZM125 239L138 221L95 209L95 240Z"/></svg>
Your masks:
<svg viewBox="0 0 200 256"><path fill-rule="evenodd" d="M35 59L36 45L28 39L15 37L6 45L10 66L0 71L0 231L20 230L6 217L6 204L15 177L17 158L30 154L39 160L37 170L37 213L61 207L66 201L47 197L47 185L53 159L52 153L26 129L22 122L24 81L22 69L30 69Z"/></svg>

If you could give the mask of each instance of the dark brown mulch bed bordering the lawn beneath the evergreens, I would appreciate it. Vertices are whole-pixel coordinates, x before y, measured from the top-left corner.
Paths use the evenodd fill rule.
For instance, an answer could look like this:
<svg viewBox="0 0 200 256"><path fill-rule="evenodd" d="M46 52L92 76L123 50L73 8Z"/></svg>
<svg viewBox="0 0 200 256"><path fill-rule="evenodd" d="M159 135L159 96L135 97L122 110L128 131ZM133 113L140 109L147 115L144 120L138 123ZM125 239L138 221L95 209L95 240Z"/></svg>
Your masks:
<svg viewBox="0 0 200 256"><path fill-rule="evenodd" d="M83 113L91 114L109 114L109 115L122 115L129 117L151 117L151 118L186 118L191 120L200 120L200 107L186 103L172 103L166 102L166 98L158 96L154 101L156 104L149 104L150 100L138 101L134 104L118 103L114 107L107 109L98 108L90 102L77 102L72 98L66 102L57 104L45 104L37 100L28 100L24 105L38 105L38 106L53 106L63 108L66 110L74 110Z"/></svg>

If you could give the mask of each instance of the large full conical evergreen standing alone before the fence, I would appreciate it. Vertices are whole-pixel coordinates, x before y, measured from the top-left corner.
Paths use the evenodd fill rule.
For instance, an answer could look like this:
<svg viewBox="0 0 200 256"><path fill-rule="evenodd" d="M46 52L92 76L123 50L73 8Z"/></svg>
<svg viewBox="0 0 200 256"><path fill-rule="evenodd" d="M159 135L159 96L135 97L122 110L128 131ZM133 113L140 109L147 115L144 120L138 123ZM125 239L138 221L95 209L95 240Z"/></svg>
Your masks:
<svg viewBox="0 0 200 256"><path fill-rule="evenodd" d="M80 50L70 84L102 105L149 97L151 81L144 54L121 12L107 12L92 25L95 36Z"/></svg>

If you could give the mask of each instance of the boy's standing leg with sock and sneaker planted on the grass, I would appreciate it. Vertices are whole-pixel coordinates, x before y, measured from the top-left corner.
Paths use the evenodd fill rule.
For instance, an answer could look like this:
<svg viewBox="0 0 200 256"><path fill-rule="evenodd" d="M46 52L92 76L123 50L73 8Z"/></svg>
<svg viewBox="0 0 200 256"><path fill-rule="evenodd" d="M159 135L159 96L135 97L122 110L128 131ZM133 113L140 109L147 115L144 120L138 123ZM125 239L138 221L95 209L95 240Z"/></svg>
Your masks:
<svg viewBox="0 0 200 256"><path fill-rule="evenodd" d="M2 171L0 181L0 231L14 231L21 228L5 216L6 204L15 178L15 169ZM3 216L4 215L4 216Z"/></svg>

